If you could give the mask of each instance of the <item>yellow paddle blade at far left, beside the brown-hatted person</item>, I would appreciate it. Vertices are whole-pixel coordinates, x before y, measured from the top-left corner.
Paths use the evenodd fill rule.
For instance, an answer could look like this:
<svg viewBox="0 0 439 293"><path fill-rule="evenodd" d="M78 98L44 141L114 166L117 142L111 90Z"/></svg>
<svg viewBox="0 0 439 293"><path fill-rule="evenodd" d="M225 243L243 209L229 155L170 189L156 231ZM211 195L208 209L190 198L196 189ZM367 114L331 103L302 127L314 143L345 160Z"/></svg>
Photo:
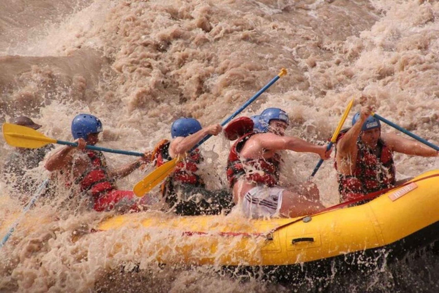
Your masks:
<svg viewBox="0 0 439 293"><path fill-rule="evenodd" d="M49 143L57 143L56 139L21 125L4 123L2 131L7 144L18 148L41 148Z"/></svg>

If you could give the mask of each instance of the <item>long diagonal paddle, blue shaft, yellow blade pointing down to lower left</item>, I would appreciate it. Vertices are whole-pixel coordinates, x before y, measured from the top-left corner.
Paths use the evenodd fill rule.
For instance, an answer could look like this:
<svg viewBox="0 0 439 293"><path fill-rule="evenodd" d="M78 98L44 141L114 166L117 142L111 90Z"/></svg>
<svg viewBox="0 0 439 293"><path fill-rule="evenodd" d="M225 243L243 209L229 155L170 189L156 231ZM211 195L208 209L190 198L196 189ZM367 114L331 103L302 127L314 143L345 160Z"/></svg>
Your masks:
<svg viewBox="0 0 439 293"><path fill-rule="evenodd" d="M281 72L274 77L269 83L267 83L262 89L260 89L252 98L245 102L244 105L241 106L236 112L234 112L229 118L224 120L221 123L221 126L225 126L230 122L231 119L235 118L242 110L247 108L252 101L255 101L264 91L266 91L273 83L275 83L279 78L287 74L287 70L282 68ZM203 142L207 141L212 135L206 135L197 145L195 145L190 152L192 152L195 148L198 148ZM141 181L137 182L137 184L133 188L133 192L138 196L142 197L144 194L149 192L152 188L154 188L157 184L162 182L169 174L172 173L175 166L182 160L184 157L176 157L175 159L170 160L169 162L159 166L157 169L152 171L146 177L144 177Z"/></svg>

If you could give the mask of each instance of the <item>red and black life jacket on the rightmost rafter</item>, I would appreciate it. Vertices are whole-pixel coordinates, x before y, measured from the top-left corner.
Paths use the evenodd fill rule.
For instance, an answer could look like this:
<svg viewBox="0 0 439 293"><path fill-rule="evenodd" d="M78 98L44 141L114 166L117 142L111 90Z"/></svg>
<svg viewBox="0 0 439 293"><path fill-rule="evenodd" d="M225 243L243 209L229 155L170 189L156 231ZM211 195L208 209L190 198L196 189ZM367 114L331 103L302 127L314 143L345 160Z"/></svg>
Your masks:
<svg viewBox="0 0 439 293"><path fill-rule="evenodd" d="M367 148L360 139L357 147L353 175L338 174L338 192L342 202L393 187L396 182L393 152L381 138L374 150ZM337 169L337 163L334 166Z"/></svg>

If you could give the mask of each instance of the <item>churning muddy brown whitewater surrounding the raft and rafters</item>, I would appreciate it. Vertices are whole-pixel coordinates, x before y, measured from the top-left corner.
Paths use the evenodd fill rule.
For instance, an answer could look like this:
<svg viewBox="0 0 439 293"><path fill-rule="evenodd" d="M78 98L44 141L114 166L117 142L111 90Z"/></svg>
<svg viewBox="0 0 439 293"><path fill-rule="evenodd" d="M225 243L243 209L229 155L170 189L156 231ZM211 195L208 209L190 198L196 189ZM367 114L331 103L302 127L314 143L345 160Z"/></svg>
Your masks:
<svg viewBox="0 0 439 293"><path fill-rule="evenodd" d="M371 104L381 116L439 143L437 1L40 0L20 5L0 4L1 122L28 115L47 136L71 140L72 117L90 112L104 124L102 146L143 151L169 138L169 125L180 116L193 116L203 125L222 121L285 67L288 75L244 115L280 107L290 116L289 134L323 143L355 98L348 120L360 105ZM396 132L387 126L383 131ZM2 145L4 159L11 148ZM209 188L225 187L221 158L229 148L222 137L203 145ZM111 166L131 159L106 156ZM285 158L284 182L305 180L318 161L302 153ZM398 179L439 168L435 158L398 154L395 159ZM47 177L42 166L28 173L40 181ZM137 171L119 186L130 189L144 174ZM331 163L324 163L315 182L325 205L338 203ZM24 203L4 182L0 190L3 227ZM68 192L41 199L2 248L1 292L111 292L122 286L133 292L282 292L318 283L288 287L255 278L241 283L219 268L161 268L137 250L142 233L89 235L107 215L72 214L64 208L66 201ZM120 239L126 250L113 255ZM409 288L436 292L437 257L428 254L414 262L397 266L396 272L384 266L367 281L352 277L341 282L343 289L335 288L394 291L405 279ZM136 272L139 263L142 270ZM425 265L415 278L411 267Z"/></svg>

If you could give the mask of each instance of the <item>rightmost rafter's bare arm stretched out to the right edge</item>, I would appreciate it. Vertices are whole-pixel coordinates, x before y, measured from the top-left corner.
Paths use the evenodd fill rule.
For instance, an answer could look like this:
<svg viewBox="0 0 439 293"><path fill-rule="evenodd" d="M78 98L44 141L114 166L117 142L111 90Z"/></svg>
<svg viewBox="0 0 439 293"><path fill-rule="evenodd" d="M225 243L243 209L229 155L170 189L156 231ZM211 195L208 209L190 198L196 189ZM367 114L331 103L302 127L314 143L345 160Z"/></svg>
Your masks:
<svg viewBox="0 0 439 293"><path fill-rule="evenodd" d="M406 155L436 157L439 151L430 148L417 141L412 141L396 134L381 134L382 140L389 146L392 151L401 152Z"/></svg>

